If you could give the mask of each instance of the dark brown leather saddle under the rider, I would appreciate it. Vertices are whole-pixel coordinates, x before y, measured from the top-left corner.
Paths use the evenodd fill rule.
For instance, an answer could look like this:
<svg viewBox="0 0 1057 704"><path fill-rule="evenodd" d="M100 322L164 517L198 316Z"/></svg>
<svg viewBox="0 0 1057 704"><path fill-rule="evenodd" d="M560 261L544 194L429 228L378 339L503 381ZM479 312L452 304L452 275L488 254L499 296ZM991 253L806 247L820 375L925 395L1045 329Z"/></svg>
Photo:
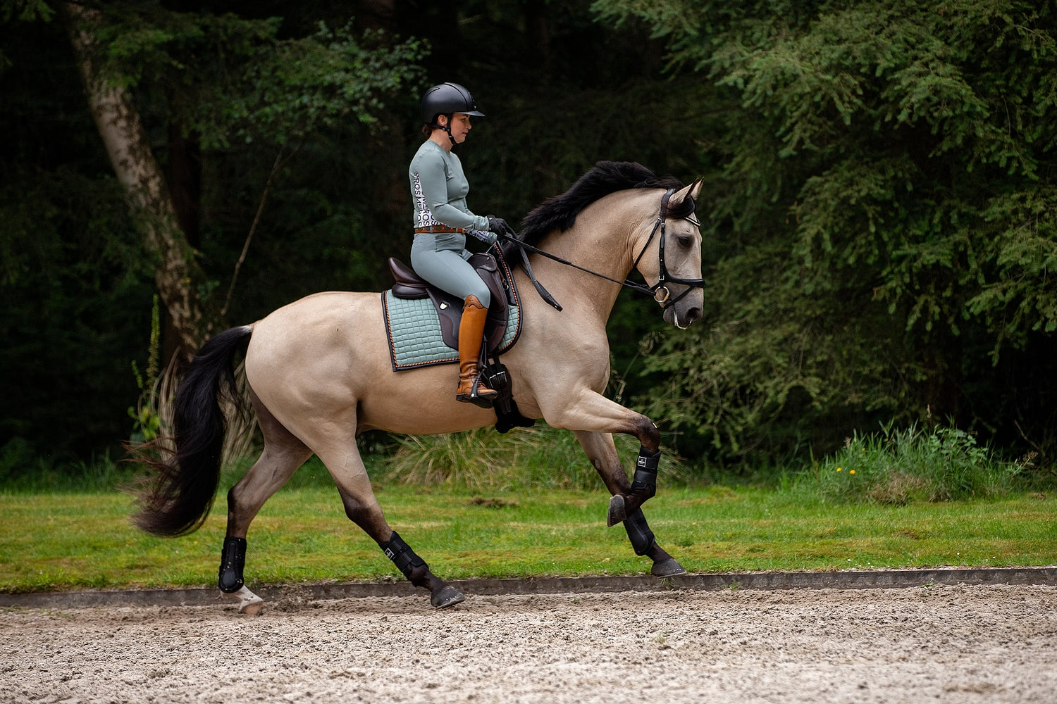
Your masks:
<svg viewBox="0 0 1057 704"><path fill-rule="evenodd" d="M517 288L514 285L509 267L506 266L506 262L502 258L497 260L493 254L478 252L470 255L469 263L477 269L478 275L492 292L492 303L488 305L488 317L484 325L484 337L488 342L488 353L493 354L502 342L503 336L506 335L511 306L519 305ZM458 349L459 322L462 320L463 301L421 279L411 267L392 256L389 258L389 270L392 271L396 282L391 289L393 296L398 299L429 298L441 320L441 335L444 338L444 344L452 349Z"/></svg>

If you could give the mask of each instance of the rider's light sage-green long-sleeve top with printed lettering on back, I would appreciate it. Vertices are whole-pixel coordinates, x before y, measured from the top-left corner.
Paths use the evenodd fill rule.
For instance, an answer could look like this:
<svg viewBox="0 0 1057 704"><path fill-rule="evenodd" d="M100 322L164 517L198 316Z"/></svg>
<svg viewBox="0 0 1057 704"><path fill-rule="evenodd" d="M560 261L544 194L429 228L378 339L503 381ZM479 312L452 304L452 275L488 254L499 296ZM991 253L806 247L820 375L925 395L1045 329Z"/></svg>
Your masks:
<svg viewBox="0 0 1057 704"><path fill-rule="evenodd" d="M474 214L466 205L469 182L458 156L427 139L411 159L408 176L414 227L458 227L487 241L488 218Z"/></svg>

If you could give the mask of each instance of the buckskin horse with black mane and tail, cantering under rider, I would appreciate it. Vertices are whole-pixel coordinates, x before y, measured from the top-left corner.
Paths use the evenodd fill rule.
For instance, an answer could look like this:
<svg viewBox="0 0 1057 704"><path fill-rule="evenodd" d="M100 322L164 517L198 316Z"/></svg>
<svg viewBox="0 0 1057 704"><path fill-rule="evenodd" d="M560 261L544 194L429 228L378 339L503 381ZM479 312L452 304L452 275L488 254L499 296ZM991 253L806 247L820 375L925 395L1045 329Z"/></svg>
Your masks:
<svg viewBox="0 0 1057 704"><path fill-rule="evenodd" d="M701 179L684 186L638 164L599 161L567 192L532 210L509 243L532 252L514 272L518 287L525 290L531 277L563 303L521 297L521 332L503 355L517 408L527 419L575 434L611 494L608 525L624 522L635 553L652 560L651 574L659 577L685 573L660 547L641 508L655 493L661 435L649 418L602 395L610 379L606 322L622 285L653 296L663 319L676 327L701 318L701 232L694 216L700 190ZM631 284L632 269L653 283ZM429 591L433 607L463 602L465 595L434 575L386 522L355 438L371 430L467 431L496 423L496 414L456 401L458 375L450 367L394 372L388 351L378 292L314 293L210 338L177 388L169 442L140 453L152 471L133 522L155 535L178 536L205 521L219 487L228 401L237 405L247 397L264 444L227 493L218 579L239 611L257 613L263 604L243 578L249 525L313 454L337 486L349 519L412 585ZM631 480L613 433L641 443Z"/></svg>

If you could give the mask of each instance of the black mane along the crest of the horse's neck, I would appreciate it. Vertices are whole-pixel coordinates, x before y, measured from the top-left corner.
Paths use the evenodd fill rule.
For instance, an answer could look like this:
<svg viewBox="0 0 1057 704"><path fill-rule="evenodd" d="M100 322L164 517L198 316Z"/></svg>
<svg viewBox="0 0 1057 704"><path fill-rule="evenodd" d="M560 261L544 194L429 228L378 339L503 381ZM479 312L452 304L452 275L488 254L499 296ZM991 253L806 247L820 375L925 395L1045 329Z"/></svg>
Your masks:
<svg viewBox="0 0 1057 704"><path fill-rule="evenodd" d="M552 230L565 231L576 222L576 215L589 205L616 191L630 188L683 188L683 184L670 176L660 177L642 164L634 161L598 161L586 174L576 179L572 188L548 198L536 206L521 221L519 239L536 244ZM660 202L657 207L660 208ZM669 211L672 217L687 217L693 212L693 198Z"/></svg>

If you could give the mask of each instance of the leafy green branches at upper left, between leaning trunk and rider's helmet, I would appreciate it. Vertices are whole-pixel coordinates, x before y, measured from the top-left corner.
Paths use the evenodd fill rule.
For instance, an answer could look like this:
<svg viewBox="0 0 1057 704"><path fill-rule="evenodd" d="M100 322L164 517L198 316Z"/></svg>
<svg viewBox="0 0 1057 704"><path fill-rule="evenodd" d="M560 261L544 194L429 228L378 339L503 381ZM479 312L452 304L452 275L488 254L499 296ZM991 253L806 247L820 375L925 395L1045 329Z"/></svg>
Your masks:
<svg viewBox="0 0 1057 704"><path fill-rule="evenodd" d="M318 22L281 37L282 18L171 13L108 3L96 30L100 70L141 91L161 91L168 119L205 149L296 144L351 120L374 125L385 99L420 80L420 41Z"/></svg>

